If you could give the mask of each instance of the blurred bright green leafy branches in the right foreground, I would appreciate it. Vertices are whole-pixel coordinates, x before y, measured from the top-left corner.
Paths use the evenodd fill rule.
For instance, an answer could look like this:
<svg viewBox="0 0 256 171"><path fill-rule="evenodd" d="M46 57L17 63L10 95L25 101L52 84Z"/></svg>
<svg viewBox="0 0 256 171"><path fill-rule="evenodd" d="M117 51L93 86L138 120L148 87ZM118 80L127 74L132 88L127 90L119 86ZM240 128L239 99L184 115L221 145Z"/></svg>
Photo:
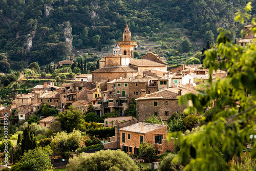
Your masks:
<svg viewBox="0 0 256 171"><path fill-rule="evenodd" d="M245 12L238 13L236 19L244 20L243 16L248 16L251 10L251 4L248 3ZM255 28L252 28L253 34L254 30ZM243 150L247 149L249 136L255 134L253 120L256 118L254 83L256 82L256 56L254 55L256 45L250 44L247 48L243 48L230 41L226 36L230 32L222 29L219 31L216 49L204 52L206 56L204 66L209 66L209 75L218 68L226 68L227 77L216 81L210 78L209 84L201 85L199 94L186 94L179 99L186 104L188 100L193 103L193 106L187 108L187 113L194 113L196 110L202 115L203 109L212 107L213 102L216 109L220 110L214 113L203 132L184 137L180 133L172 135L175 138L178 137L181 144L176 161L185 162L188 156L192 157L186 169L230 170L228 162L234 155L244 156ZM226 60L218 61L219 57ZM239 111L236 104L238 100L240 101ZM229 106L228 109L224 108L226 105ZM252 157L255 157L255 151L256 148L253 146L250 153Z"/></svg>

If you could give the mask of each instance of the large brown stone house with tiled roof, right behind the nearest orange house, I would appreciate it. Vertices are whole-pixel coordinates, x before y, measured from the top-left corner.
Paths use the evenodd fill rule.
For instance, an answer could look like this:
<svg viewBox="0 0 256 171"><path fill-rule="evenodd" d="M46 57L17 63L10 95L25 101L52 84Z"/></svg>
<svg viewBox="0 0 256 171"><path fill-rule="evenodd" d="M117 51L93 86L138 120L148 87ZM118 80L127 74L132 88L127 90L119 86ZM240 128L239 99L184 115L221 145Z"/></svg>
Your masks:
<svg viewBox="0 0 256 171"><path fill-rule="evenodd" d="M195 87L183 85L137 98L138 121L144 121L150 116L158 116L162 120L167 120L173 113L183 112L186 106L179 105L178 96L187 93L195 93Z"/></svg>

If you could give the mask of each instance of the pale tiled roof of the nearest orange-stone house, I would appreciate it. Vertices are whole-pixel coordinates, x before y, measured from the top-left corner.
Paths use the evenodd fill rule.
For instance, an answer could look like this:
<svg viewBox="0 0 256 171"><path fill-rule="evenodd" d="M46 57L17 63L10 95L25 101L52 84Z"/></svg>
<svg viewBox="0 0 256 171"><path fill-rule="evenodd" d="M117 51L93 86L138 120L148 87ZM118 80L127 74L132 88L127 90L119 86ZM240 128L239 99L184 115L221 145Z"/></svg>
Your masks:
<svg viewBox="0 0 256 171"><path fill-rule="evenodd" d="M143 127L142 127L142 124L143 124ZM160 129L162 127L166 127L167 129L167 125L138 122L130 126L122 127L121 129L119 129L119 131L128 131L128 132L145 134L145 133Z"/></svg>

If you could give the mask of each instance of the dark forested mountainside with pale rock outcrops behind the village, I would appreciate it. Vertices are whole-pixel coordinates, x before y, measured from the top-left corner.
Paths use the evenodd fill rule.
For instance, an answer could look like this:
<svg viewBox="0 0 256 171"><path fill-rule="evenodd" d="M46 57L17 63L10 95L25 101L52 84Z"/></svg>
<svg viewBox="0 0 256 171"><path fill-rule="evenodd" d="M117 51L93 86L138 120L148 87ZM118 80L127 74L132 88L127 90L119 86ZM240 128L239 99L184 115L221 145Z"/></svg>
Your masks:
<svg viewBox="0 0 256 171"><path fill-rule="evenodd" d="M121 39L126 23L133 36L184 28L194 39L207 39L212 33L217 37L217 28L227 27L234 39L241 29L234 23L234 14L247 2L0 0L0 53L5 53L0 55L0 65L13 70L34 61L47 65L70 55L72 48L98 47Z"/></svg>

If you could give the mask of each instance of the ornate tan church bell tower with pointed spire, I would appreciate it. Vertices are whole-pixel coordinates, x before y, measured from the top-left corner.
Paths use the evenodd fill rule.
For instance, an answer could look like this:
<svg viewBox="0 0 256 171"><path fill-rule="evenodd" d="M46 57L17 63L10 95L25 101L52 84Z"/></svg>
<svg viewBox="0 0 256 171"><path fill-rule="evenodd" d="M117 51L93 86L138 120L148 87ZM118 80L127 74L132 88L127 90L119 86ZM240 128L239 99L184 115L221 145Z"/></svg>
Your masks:
<svg viewBox="0 0 256 171"><path fill-rule="evenodd" d="M128 55L133 59L133 48L137 45L137 41L131 41L131 31L126 24L123 32L123 41L118 41L117 44L121 48L122 55Z"/></svg>

